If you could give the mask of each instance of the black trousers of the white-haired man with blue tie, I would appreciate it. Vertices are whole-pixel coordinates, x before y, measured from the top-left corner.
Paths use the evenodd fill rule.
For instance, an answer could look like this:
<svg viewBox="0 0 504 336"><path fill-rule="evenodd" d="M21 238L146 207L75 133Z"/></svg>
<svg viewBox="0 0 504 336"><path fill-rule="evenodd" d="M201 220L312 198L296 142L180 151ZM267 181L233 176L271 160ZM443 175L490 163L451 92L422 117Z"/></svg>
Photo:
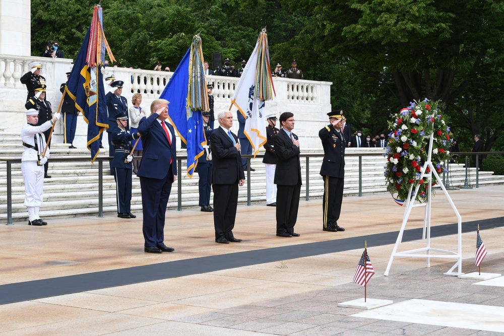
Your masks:
<svg viewBox="0 0 504 336"><path fill-rule="evenodd" d="M232 238L236 207L238 205L238 181L233 184L213 184L215 239Z"/></svg>

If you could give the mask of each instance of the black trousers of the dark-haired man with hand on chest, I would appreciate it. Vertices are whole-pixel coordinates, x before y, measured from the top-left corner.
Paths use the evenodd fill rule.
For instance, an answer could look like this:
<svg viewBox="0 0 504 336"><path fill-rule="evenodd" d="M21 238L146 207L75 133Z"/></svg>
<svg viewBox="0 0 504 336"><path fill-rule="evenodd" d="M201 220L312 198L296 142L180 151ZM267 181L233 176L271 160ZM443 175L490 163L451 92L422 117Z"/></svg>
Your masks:
<svg viewBox="0 0 504 336"><path fill-rule="evenodd" d="M297 221L301 184L277 184L277 233L292 233Z"/></svg>

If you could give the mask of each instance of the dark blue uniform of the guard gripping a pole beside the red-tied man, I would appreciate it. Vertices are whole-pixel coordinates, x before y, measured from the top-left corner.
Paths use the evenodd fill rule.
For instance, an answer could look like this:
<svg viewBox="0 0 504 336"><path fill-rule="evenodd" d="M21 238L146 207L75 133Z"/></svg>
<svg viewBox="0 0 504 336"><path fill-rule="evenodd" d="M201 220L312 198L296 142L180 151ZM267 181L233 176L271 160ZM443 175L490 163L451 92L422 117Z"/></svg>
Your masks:
<svg viewBox="0 0 504 336"><path fill-rule="evenodd" d="M114 147L114 158L112 168L114 169L116 183L117 213L131 213L131 188L132 169L131 162L124 162L124 159L131 153L131 141L138 139L137 133L134 135L119 128L117 124L109 132Z"/></svg>

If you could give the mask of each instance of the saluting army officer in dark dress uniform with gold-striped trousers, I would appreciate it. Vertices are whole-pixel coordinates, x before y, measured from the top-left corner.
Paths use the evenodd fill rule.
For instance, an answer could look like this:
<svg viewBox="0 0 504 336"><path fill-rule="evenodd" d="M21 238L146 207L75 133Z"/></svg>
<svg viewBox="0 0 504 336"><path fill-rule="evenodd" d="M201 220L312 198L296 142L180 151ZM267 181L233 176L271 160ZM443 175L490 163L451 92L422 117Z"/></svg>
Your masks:
<svg viewBox="0 0 504 336"><path fill-rule="evenodd" d="M324 160L320 174L324 179L324 196L322 198L323 230L329 232L345 231L338 226L343 200L343 178L345 177L346 141L341 131L344 118L342 110L329 112L326 127L319 131L319 138L324 148Z"/></svg>

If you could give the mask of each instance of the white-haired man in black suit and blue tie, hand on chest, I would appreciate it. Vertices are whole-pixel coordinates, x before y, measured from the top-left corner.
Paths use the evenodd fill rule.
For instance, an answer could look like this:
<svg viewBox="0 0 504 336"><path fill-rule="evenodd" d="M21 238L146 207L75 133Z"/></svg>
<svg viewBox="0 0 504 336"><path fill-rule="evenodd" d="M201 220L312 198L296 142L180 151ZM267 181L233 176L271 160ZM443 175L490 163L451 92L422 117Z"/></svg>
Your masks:
<svg viewBox="0 0 504 336"><path fill-rule="evenodd" d="M232 230L236 219L238 186L243 185L245 174L241 164L241 146L236 135L230 131L233 115L229 111L222 111L217 115L217 120L220 126L210 136L215 242L229 244L241 241L234 237Z"/></svg>

